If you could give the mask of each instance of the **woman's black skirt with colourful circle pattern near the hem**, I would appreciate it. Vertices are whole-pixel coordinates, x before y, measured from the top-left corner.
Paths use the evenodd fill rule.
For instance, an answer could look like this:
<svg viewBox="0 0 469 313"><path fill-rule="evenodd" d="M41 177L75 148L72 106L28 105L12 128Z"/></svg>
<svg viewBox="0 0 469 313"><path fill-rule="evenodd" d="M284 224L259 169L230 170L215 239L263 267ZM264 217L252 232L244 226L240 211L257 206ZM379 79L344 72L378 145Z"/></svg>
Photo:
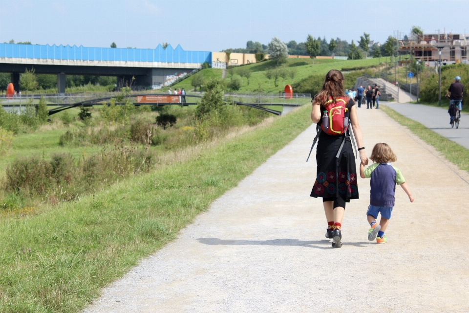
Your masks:
<svg viewBox="0 0 469 313"><path fill-rule="evenodd" d="M341 197L346 202L358 199L357 169L350 137L345 138L341 154L336 158L344 137L320 134L316 152L318 171L311 197Z"/></svg>

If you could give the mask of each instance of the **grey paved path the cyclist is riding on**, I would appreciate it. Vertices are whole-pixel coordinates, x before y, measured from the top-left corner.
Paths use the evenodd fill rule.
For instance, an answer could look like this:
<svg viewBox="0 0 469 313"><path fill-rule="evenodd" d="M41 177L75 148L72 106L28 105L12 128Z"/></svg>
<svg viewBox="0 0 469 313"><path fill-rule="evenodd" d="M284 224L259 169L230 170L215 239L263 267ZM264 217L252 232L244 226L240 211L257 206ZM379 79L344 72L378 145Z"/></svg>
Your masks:
<svg viewBox="0 0 469 313"><path fill-rule="evenodd" d="M449 124L448 108L437 108L422 104L411 103L386 103L396 112L413 119L432 131L447 137L449 140L457 142L461 146L469 149L469 114L461 113L459 128L451 128Z"/></svg>

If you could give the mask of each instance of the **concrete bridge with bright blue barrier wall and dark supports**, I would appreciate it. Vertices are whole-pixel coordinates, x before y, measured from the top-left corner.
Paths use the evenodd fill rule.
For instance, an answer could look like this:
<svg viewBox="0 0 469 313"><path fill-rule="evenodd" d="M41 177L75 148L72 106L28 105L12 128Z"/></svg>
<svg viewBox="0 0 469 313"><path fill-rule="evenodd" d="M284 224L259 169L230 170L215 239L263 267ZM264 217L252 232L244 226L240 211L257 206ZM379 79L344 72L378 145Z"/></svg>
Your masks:
<svg viewBox="0 0 469 313"><path fill-rule="evenodd" d="M212 52L185 51L180 45L155 49L93 48L76 45L0 44L0 72L12 73L16 91L20 73L34 68L39 74L57 74L57 89L65 92L65 75L117 76L118 86L164 86L178 76L212 63Z"/></svg>

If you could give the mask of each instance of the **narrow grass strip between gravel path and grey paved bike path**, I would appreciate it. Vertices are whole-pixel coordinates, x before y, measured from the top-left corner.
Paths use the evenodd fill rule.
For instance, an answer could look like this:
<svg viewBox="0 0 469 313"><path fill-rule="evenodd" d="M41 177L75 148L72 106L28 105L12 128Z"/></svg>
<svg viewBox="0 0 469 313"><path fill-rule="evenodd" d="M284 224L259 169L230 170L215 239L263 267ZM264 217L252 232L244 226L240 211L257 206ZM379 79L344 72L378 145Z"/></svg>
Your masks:
<svg viewBox="0 0 469 313"><path fill-rule="evenodd" d="M435 147L435 149L450 162L469 173L469 149L466 149L454 141L429 130L419 122L411 120L387 106L383 106L382 109L399 124L407 127L413 134L419 136L420 139Z"/></svg>

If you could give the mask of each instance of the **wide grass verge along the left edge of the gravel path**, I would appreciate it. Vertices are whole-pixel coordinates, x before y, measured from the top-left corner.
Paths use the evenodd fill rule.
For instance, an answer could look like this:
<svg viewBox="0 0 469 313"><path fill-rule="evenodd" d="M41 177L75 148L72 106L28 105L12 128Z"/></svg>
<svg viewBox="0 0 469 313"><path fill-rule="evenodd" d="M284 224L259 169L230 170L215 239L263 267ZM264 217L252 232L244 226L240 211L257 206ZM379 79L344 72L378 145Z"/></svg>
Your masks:
<svg viewBox="0 0 469 313"><path fill-rule="evenodd" d="M189 148L179 160L81 201L0 219L0 312L79 311L311 125L308 113L304 106Z"/></svg>

